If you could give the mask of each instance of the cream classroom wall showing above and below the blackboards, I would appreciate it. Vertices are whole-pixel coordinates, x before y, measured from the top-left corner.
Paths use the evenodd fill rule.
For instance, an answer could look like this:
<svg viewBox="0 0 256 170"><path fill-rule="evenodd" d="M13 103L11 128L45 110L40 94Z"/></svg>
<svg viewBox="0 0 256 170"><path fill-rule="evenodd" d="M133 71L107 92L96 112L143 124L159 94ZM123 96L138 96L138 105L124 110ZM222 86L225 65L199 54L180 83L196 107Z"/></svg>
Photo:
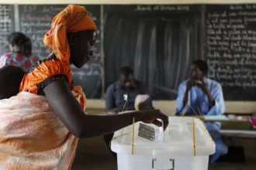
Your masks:
<svg viewBox="0 0 256 170"><path fill-rule="evenodd" d="M254 0L0 0L0 4L235 4L256 3ZM174 100L155 100L154 107L160 109L164 114L175 114ZM236 113L256 112L256 101L226 101L226 111ZM88 100L87 110L90 113L104 112L105 100Z"/></svg>

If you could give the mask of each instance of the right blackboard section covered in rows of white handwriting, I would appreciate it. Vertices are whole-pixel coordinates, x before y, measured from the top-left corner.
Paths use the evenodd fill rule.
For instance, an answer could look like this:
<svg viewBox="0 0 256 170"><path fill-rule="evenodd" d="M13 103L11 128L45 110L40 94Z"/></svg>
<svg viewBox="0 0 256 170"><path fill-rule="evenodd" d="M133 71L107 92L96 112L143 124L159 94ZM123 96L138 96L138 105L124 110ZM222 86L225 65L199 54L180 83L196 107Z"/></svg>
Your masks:
<svg viewBox="0 0 256 170"><path fill-rule="evenodd" d="M206 61L225 100L256 100L256 5L206 5Z"/></svg>

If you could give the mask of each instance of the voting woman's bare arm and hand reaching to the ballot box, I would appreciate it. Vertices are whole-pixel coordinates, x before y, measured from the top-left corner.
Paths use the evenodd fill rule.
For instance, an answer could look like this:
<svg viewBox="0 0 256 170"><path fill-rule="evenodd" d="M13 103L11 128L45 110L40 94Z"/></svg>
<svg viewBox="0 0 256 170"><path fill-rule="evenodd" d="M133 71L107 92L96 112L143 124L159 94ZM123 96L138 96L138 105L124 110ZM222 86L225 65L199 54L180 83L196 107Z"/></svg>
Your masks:
<svg viewBox="0 0 256 170"><path fill-rule="evenodd" d="M119 115L87 115L64 80L50 83L43 92L54 112L61 117L67 129L78 138L89 138L117 131L132 124L133 117L135 121L144 121L157 126L161 126L161 122L157 119L162 119L164 129L168 126L168 117L159 110L134 111Z"/></svg>

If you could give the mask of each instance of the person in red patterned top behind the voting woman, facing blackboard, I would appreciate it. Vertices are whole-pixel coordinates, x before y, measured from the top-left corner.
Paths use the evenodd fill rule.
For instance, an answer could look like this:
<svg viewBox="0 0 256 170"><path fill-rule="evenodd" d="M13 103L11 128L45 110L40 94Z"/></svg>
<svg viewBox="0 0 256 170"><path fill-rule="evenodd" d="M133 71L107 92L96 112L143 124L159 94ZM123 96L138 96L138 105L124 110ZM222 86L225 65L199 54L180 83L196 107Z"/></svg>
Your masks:
<svg viewBox="0 0 256 170"><path fill-rule="evenodd" d="M30 39L22 32L12 32L8 37L10 53L0 57L0 68L2 66L19 66L23 70L29 69L39 58L32 55Z"/></svg>

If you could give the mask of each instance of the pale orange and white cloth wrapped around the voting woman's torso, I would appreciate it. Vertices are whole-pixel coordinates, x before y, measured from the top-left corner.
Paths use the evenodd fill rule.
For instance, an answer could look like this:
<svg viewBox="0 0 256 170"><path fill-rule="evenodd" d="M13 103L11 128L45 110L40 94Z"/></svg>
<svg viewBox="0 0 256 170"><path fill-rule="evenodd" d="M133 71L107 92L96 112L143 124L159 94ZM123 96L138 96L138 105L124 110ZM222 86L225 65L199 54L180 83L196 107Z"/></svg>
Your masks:
<svg viewBox="0 0 256 170"><path fill-rule="evenodd" d="M74 97L85 109L81 88ZM0 100L0 169L67 170L78 138L51 109L47 97L21 92Z"/></svg>

